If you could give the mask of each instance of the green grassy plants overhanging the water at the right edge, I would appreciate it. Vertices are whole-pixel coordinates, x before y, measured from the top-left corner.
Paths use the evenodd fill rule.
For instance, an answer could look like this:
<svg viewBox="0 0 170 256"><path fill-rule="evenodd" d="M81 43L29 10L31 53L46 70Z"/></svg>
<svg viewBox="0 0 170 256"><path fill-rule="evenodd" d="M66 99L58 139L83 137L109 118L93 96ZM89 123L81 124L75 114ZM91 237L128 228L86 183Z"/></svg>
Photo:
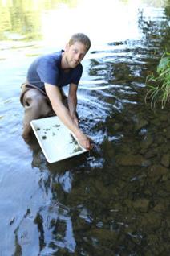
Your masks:
<svg viewBox="0 0 170 256"><path fill-rule="evenodd" d="M161 103L161 108L164 109L170 100L170 53L165 52L160 59L160 63L156 69L156 75L147 76L146 85L148 93L145 100L151 100L151 107L156 107L156 102Z"/></svg>

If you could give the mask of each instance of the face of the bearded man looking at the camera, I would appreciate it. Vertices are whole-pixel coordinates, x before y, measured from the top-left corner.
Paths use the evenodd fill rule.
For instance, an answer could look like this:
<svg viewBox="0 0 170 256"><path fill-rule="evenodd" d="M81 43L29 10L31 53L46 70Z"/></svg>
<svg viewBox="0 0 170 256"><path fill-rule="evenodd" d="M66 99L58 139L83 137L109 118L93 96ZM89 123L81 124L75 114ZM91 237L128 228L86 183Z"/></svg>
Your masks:
<svg viewBox="0 0 170 256"><path fill-rule="evenodd" d="M83 43L75 42L71 46L67 43L65 56L70 68L75 68L87 53L87 48Z"/></svg>

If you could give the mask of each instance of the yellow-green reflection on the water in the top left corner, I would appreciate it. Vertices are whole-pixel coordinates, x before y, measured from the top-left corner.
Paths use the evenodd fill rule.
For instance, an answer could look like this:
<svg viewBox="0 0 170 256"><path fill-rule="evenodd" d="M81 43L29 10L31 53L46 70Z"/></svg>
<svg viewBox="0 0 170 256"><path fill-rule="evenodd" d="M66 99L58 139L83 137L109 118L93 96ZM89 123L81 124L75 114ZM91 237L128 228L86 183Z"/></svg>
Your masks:
<svg viewBox="0 0 170 256"><path fill-rule="evenodd" d="M0 39L22 40L38 39L37 31L40 29L39 8L33 5L34 2L19 1L14 5L11 2L0 2L1 25ZM40 39L40 38L39 38Z"/></svg>

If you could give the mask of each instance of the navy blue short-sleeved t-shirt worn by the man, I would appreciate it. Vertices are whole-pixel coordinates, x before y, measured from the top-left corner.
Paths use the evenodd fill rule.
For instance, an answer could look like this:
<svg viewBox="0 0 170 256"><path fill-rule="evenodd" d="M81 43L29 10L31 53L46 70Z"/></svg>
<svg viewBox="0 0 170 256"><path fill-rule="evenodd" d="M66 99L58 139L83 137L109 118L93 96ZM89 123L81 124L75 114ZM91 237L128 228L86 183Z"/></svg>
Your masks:
<svg viewBox="0 0 170 256"><path fill-rule="evenodd" d="M30 65L27 72L27 81L44 89L44 83L63 87L74 83L79 84L82 76L82 64L78 64L75 68L70 68L68 72L64 72L61 68L62 51L40 56Z"/></svg>

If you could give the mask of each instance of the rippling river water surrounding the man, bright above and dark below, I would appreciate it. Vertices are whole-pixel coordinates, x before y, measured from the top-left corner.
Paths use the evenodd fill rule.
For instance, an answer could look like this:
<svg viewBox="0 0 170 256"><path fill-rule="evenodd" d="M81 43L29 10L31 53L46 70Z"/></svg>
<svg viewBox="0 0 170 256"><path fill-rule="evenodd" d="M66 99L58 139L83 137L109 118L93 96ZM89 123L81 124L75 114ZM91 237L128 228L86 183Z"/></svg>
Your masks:
<svg viewBox="0 0 170 256"><path fill-rule="evenodd" d="M1 256L169 255L170 113L144 102L169 15L166 1L0 1ZM77 31L91 38L78 112L95 148L50 164L21 137L20 85Z"/></svg>

